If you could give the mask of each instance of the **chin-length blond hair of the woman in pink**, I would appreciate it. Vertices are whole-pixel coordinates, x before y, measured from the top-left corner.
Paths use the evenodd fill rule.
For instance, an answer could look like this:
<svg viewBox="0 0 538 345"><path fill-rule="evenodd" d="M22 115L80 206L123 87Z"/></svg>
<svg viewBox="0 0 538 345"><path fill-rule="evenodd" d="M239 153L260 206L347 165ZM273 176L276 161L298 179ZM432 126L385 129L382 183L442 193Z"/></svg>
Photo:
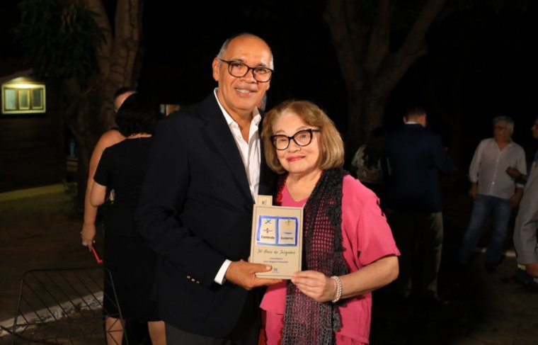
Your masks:
<svg viewBox="0 0 538 345"><path fill-rule="evenodd" d="M273 146L271 135L273 133L273 125L280 115L285 113L295 113L304 120L307 125L313 128L319 128L320 139L320 157L319 167L322 170L331 168L340 168L344 164L344 145L340 132L336 129L333 120L327 114L310 101L284 101L272 108L263 118L263 130L261 138L263 140L265 160L270 169L277 174L282 174L285 169L280 164L277 157L277 152Z"/></svg>

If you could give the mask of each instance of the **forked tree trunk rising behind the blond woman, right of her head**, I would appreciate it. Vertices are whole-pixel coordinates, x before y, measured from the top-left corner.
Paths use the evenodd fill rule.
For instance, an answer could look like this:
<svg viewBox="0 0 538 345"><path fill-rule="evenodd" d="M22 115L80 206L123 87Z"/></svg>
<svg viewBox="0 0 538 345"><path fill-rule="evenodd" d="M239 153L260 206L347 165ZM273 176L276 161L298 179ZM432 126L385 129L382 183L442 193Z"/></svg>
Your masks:
<svg viewBox="0 0 538 345"><path fill-rule="evenodd" d="M358 1L328 0L324 11L348 93L346 162L365 142L368 133L382 125L385 103L392 89L411 64L427 52L425 35L445 0L425 2L395 52L390 49L390 32L396 3L394 0L374 2L377 7L370 9L374 13L369 22L360 21Z"/></svg>

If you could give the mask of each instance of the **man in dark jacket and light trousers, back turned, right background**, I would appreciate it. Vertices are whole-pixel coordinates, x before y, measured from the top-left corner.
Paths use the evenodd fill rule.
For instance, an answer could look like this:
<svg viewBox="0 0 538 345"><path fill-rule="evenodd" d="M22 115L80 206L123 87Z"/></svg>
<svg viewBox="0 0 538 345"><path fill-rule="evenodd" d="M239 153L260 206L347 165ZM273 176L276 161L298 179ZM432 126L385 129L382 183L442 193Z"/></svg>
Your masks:
<svg viewBox="0 0 538 345"><path fill-rule="evenodd" d="M437 273L443 237L438 175L439 171L452 171L452 161L439 135L425 126L424 109L413 107L404 116L404 126L387 135L384 152L389 176L384 205L401 251L400 275L392 288L400 297L410 295L413 251L420 244L420 284L413 290L418 298L438 303Z"/></svg>

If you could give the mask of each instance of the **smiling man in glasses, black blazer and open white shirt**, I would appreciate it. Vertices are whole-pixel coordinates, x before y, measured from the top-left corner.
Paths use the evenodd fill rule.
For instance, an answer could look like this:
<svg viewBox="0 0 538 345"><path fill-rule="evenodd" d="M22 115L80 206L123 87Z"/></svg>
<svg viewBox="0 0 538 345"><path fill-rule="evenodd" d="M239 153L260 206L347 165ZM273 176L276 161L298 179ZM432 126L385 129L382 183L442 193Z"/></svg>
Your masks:
<svg viewBox="0 0 538 345"><path fill-rule="evenodd" d="M212 63L217 89L164 119L156 130L137 224L161 256L159 316L168 344L257 344L257 278L247 262L253 203L272 195L258 106L273 54L251 34L227 40Z"/></svg>

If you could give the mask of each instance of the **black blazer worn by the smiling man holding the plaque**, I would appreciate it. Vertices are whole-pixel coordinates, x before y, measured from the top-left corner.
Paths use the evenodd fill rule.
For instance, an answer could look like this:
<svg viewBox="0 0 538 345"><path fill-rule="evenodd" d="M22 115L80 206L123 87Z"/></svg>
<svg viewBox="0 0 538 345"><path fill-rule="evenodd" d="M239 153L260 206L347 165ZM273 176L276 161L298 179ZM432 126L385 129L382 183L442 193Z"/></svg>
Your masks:
<svg viewBox="0 0 538 345"><path fill-rule="evenodd" d="M258 191L273 195L274 188L261 147ZM225 259L248 259L253 203L239 149L213 93L161 120L136 216L137 229L160 256L161 319L212 337L234 329L247 290L214 278Z"/></svg>

